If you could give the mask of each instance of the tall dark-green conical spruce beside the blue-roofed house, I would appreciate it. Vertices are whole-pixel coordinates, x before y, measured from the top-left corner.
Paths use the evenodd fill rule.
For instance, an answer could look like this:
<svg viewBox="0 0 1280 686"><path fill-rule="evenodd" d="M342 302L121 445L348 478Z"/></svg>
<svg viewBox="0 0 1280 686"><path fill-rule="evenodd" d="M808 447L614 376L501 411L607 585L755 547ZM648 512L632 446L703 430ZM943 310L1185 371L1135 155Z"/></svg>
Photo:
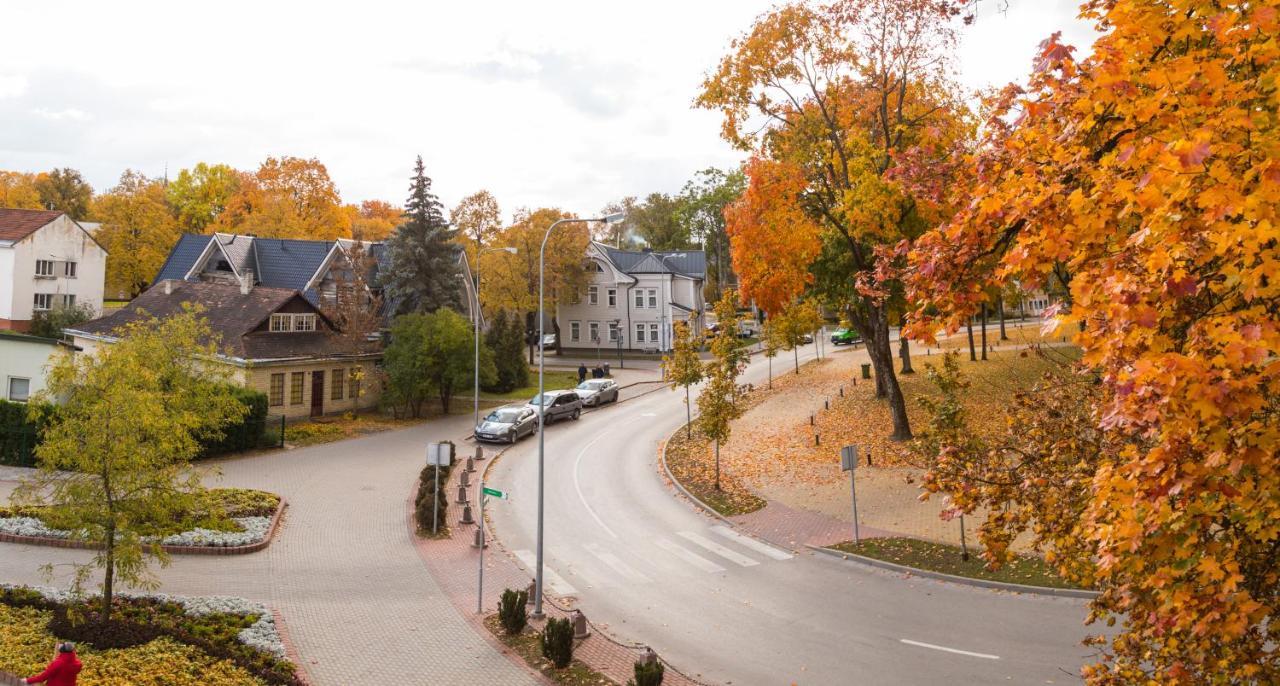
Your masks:
<svg viewBox="0 0 1280 686"><path fill-rule="evenodd" d="M462 273L453 235L419 156L404 202L404 223L387 242L389 265L383 284L393 311L431 312L461 306Z"/></svg>

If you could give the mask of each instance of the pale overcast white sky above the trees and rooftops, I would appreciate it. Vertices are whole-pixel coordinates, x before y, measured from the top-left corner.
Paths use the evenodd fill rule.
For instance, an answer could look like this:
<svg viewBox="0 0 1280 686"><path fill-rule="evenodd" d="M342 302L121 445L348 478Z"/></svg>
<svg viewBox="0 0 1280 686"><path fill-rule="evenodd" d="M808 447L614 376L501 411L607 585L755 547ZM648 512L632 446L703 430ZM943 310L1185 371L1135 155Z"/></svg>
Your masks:
<svg viewBox="0 0 1280 686"><path fill-rule="evenodd" d="M422 155L447 207L594 212L675 193L742 155L699 84L767 0L72 3L5 9L0 169L79 169L99 192L132 168L256 169L317 157L346 202L402 202ZM1005 5L1005 6L1001 6ZM986 0L959 78L1021 81L1075 0Z"/></svg>

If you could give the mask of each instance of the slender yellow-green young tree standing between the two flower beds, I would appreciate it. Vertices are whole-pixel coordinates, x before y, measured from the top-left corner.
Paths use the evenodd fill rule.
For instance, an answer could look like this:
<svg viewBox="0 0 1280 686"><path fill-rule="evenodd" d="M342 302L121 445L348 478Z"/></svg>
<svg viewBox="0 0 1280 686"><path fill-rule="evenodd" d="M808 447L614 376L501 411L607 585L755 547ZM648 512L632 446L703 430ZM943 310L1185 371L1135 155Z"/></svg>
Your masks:
<svg viewBox="0 0 1280 686"><path fill-rule="evenodd" d="M46 504L49 526L97 548L91 564L77 566L76 587L91 567L102 570L104 623L116 580L155 587L147 558L169 562L157 536L202 502L189 461L202 439L247 411L205 363L218 339L197 310L131 323L115 335L119 342L95 355L61 356L51 366L45 393L61 399L58 421L36 448L38 472L14 493L15 502Z"/></svg>

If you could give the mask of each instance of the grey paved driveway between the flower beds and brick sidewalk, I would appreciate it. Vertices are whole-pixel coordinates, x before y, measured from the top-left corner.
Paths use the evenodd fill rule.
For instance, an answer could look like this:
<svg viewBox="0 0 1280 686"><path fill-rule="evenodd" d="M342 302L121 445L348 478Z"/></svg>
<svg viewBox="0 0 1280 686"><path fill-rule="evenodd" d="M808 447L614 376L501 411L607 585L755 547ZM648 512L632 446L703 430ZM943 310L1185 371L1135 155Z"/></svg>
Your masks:
<svg viewBox="0 0 1280 686"><path fill-rule="evenodd" d="M413 546L406 499L433 440L461 439L471 415L401 431L214 462L211 485L259 488L289 502L260 553L174 555L160 590L239 595L280 610L317 685L538 683L458 616ZM471 449L470 444L461 444ZM6 471L12 475L13 471ZM12 485L12 484L10 484ZM45 584L45 563L88 554L0 544L0 580ZM55 585L70 577L55 567Z"/></svg>

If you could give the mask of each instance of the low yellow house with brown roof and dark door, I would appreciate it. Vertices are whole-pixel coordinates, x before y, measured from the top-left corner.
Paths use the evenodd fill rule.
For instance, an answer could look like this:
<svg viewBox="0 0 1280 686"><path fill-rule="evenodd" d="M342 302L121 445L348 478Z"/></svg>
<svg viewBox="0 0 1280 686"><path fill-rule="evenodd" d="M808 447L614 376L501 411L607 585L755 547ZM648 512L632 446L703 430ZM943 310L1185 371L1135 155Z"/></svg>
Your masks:
<svg viewBox="0 0 1280 686"><path fill-rule="evenodd" d="M298 289L251 285L247 275L239 284L165 279L67 334L92 355L118 340L120 326L179 314L188 303L204 310L232 379L265 393L273 415L306 417L378 404L379 340L343 335Z"/></svg>

